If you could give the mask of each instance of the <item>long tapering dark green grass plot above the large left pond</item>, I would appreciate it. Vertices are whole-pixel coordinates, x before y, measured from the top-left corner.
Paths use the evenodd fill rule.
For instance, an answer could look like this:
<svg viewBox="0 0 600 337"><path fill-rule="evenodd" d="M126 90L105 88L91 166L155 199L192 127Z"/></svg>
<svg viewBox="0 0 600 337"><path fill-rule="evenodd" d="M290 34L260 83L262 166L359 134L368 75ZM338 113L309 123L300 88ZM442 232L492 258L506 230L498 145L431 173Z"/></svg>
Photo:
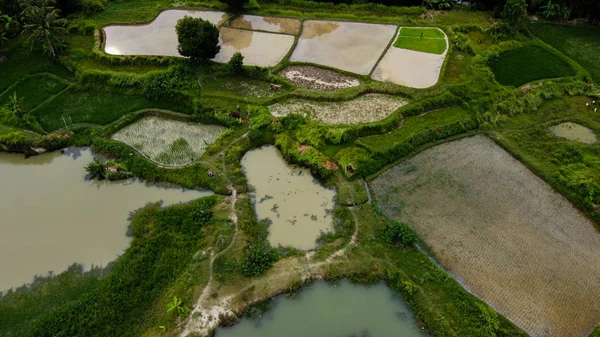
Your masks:
<svg viewBox="0 0 600 337"><path fill-rule="evenodd" d="M188 108L155 102L143 97L103 91L69 89L32 111L46 131L66 125L92 123L106 125L130 112L145 109L169 109L190 112Z"/></svg>

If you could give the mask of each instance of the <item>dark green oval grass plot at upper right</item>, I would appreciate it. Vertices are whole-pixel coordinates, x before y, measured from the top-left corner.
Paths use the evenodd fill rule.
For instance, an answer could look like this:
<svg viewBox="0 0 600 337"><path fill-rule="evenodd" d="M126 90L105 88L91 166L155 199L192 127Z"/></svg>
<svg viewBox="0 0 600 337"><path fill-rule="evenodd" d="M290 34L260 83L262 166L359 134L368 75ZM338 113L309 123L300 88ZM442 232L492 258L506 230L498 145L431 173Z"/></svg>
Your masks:
<svg viewBox="0 0 600 337"><path fill-rule="evenodd" d="M498 83L515 87L544 78L575 75L566 61L537 45L501 54L492 64L492 71Z"/></svg>

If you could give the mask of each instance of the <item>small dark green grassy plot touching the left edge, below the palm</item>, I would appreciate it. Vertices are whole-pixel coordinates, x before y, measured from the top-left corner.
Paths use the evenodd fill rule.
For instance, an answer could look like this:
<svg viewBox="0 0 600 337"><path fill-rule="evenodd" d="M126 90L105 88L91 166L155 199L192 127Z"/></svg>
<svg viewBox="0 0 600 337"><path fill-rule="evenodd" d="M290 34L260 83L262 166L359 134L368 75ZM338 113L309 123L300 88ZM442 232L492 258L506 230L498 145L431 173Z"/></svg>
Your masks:
<svg viewBox="0 0 600 337"><path fill-rule="evenodd" d="M67 83L50 74L34 74L12 86L4 94L0 95L0 105L8 103L13 93L22 100L23 111L30 111L40 103L65 89Z"/></svg>

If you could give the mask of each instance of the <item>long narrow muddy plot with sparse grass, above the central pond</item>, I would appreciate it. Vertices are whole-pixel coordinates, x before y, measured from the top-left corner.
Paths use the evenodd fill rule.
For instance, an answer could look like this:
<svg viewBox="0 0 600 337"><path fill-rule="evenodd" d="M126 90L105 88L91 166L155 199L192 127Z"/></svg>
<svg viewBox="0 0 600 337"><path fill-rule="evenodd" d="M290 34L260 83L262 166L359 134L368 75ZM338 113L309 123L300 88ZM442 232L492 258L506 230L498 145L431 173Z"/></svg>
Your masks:
<svg viewBox="0 0 600 337"><path fill-rule="evenodd" d="M390 116L407 101L395 96L367 94L345 102L315 102L291 99L269 106L273 116L303 114L324 124L360 124L377 122Z"/></svg>

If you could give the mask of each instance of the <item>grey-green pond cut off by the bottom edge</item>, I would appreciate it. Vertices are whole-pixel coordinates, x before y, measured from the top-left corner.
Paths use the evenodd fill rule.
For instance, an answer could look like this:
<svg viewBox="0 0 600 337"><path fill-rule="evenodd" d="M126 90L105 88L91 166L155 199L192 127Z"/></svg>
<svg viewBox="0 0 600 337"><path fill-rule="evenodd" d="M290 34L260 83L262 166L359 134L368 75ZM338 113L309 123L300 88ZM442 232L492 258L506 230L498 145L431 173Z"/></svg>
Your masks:
<svg viewBox="0 0 600 337"><path fill-rule="evenodd" d="M385 285L318 282L295 299L279 297L257 320L243 319L216 337L420 337L412 313Z"/></svg>

